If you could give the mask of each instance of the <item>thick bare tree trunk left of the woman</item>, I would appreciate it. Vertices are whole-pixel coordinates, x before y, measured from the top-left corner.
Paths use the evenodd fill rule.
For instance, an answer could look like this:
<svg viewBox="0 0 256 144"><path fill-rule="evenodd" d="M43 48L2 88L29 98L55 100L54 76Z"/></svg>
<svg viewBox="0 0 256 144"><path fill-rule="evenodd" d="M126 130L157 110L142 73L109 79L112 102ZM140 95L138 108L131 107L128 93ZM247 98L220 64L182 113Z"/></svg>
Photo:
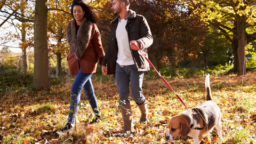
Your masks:
<svg viewBox="0 0 256 144"><path fill-rule="evenodd" d="M35 66L33 76L34 90L50 90L47 50L47 0L36 0L35 6Z"/></svg>

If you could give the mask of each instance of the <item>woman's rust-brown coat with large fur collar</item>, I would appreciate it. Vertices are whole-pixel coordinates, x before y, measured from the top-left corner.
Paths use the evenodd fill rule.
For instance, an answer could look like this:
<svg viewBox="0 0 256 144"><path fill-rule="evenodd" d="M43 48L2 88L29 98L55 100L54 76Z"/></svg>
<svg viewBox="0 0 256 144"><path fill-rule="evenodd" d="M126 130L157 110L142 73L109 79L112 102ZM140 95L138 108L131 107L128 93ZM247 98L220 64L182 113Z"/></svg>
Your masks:
<svg viewBox="0 0 256 144"><path fill-rule="evenodd" d="M99 58L105 55L97 25L83 18L76 32L76 20L73 19L68 24L67 41L70 47L67 57L69 75L77 75L79 68L82 73L95 73Z"/></svg>

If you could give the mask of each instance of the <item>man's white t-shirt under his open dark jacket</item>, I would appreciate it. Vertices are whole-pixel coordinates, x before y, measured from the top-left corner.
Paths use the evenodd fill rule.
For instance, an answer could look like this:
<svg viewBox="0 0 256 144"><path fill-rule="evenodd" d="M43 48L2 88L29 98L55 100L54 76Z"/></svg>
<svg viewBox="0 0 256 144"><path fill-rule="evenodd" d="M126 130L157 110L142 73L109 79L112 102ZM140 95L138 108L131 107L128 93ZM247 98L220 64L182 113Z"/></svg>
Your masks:
<svg viewBox="0 0 256 144"><path fill-rule="evenodd" d="M121 21L118 22L118 25L116 28L116 39L117 39L117 46L118 46L116 62L119 65L129 66L129 65L134 65L134 61L132 59L128 34L125 29L126 23L127 23L127 20L122 19Z"/></svg>

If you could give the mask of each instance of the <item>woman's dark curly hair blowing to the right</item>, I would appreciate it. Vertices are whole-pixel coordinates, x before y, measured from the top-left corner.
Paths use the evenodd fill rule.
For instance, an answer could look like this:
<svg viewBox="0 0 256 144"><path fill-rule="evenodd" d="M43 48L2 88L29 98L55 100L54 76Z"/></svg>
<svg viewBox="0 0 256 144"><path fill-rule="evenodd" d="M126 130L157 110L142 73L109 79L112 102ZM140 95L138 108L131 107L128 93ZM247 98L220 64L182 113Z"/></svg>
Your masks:
<svg viewBox="0 0 256 144"><path fill-rule="evenodd" d="M74 14L73 14L73 10L74 10L74 6L81 6L83 11L85 11L84 13L84 17L87 18L88 20L90 20L93 23L97 23L98 22L98 17L97 15L93 12L93 7L91 7L90 5L85 4L82 0L74 0L71 4L71 15L74 18Z"/></svg>

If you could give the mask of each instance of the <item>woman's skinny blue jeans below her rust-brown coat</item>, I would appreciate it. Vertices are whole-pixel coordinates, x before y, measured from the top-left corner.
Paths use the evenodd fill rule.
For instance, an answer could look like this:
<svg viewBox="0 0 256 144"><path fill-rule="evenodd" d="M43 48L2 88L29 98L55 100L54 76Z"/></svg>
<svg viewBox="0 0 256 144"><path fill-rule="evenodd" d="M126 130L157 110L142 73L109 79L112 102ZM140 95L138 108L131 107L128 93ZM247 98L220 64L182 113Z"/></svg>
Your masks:
<svg viewBox="0 0 256 144"><path fill-rule="evenodd" d="M95 97L93 85L91 81L92 74L84 74L81 69L79 69L75 81L71 87L71 102L70 102L70 112L68 115L68 123L74 124L77 111L79 109L79 102L81 97L81 91L84 87L87 99L92 107L93 113L100 114L98 109L97 98Z"/></svg>

